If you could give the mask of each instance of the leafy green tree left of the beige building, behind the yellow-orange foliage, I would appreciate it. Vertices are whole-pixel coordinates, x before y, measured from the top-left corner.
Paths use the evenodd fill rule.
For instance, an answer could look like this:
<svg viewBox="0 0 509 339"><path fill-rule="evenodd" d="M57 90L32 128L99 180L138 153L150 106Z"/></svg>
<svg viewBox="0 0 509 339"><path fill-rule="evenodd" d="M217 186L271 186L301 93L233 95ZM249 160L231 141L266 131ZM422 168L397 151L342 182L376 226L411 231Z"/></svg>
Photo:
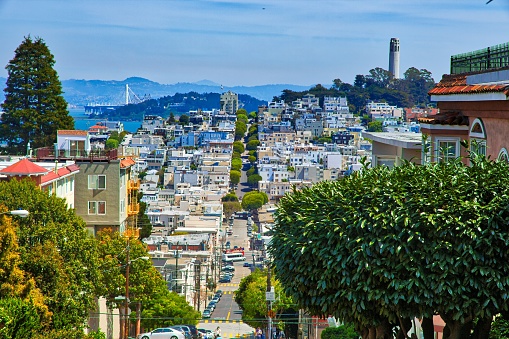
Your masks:
<svg viewBox="0 0 509 339"><path fill-rule="evenodd" d="M19 268L33 279L52 313L45 330L82 329L95 307L97 242L74 209L32 181L0 182L0 192L7 210L30 211L28 218L16 220Z"/></svg>

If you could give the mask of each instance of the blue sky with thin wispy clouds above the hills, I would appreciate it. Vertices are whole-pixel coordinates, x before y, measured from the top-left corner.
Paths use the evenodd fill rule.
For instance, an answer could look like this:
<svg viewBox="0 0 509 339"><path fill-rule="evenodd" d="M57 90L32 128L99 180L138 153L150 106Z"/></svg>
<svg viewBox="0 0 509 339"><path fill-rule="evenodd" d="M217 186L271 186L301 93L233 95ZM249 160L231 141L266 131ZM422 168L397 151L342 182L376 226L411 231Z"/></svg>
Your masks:
<svg viewBox="0 0 509 339"><path fill-rule="evenodd" d="M60 80L330 87L388 69L438 81L451 55L509 42L509 0L0 0L0 77L25 36Z"/></svg>

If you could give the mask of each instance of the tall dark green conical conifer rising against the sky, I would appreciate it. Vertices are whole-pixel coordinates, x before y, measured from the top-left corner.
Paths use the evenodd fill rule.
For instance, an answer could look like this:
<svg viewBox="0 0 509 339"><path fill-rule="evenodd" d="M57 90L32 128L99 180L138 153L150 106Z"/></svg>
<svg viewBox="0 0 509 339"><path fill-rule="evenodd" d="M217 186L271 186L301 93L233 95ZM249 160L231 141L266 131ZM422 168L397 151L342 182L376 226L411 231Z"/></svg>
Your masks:
<svg viewBox="0 0 509 339"><path fill-rule="evenodd" d="M44 41L30 36L7 64L0 141L7 143L9 154L26 152L29 142L32 148L52 146L57 130L74 129L54 64Z"/></svg>

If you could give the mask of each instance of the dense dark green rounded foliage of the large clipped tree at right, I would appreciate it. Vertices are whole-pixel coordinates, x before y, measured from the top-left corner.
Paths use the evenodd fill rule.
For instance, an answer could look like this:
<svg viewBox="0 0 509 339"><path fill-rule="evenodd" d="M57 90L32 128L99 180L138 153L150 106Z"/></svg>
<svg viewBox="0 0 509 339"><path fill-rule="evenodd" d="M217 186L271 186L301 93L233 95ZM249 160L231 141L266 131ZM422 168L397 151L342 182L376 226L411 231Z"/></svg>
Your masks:
<svg viewBox="0 0 509 339"><path fill-rule="evenodd" d="M508 165L470 163L365 168L285 195L269 248L277 278L363 336L440 314L446 338L470 337L509 298Z"/></svg>

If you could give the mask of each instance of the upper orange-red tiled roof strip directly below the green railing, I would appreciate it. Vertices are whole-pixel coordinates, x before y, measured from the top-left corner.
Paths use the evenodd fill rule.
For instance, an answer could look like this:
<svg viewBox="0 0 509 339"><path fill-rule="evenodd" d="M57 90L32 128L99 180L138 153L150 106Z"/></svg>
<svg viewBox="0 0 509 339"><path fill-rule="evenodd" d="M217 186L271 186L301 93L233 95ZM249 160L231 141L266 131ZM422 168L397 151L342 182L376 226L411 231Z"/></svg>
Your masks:
<svg viewBox="0 0 509 339"><path fill-rule="evenodd" d="M428 92L428 95L476 94L488 92L503 92L508 95L509 84L467 85L466 74L446 74L442 77L442 80Z"/></svg>

